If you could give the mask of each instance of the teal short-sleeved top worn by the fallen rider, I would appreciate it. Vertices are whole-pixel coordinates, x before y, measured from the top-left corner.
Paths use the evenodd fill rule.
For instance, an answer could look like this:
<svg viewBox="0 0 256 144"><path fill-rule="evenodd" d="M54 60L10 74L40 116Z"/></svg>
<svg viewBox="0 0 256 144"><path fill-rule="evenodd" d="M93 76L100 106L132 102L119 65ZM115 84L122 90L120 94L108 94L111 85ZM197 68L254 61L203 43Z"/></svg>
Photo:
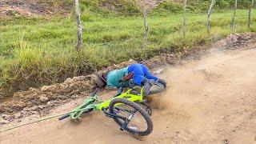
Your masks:
<svg viewBox="0 0 256 144"><path fill-rule="evenodd" d="M107 86L110 87L127 87L129 82L122 82L122 77L128 74L128 67L120 70L110 71L106 76Z"/></svg>

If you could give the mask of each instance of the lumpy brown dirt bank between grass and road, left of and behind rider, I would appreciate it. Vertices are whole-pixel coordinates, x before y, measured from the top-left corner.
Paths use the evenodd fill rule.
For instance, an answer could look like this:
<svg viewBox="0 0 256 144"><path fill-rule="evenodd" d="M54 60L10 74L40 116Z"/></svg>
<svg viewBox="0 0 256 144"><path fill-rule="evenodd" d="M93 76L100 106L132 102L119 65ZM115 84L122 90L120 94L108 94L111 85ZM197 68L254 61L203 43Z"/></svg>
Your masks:
<svg viewBox="0 0 256 144"><path fill-rule="evenodd" d="M122 68L134 62L133 60L122 62L110 66L106 70ZM67 78L65 82L56 85L42 86L41 89L31 87L30 90L19 91L9 101L0 104L0 113L11 114L12 116L4 116L4 119L8 121L12 121L17 112L21 112L18 115L22 115L22 117L34 113L47 114L47 111L54 106L61 105L71 99L88 96L94 88L91 83L93 76L94 74Z"/></svg>

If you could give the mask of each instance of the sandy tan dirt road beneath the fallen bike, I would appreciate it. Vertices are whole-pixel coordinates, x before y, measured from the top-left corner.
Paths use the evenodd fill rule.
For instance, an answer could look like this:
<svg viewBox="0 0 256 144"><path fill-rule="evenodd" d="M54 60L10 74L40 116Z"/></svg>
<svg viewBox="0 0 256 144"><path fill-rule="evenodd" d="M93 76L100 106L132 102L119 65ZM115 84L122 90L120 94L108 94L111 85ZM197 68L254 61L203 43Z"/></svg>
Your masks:
<svg viewBox="0 0 256 144"><path fill-rule="evenodd" d="M211 51L201 60L167 66L168 89L154 102L154 131L134 138L102 113L81 123L57 119L1 134L8 143L256 143L256 50ZM53 110L58 114L82 99Z"/></svg>

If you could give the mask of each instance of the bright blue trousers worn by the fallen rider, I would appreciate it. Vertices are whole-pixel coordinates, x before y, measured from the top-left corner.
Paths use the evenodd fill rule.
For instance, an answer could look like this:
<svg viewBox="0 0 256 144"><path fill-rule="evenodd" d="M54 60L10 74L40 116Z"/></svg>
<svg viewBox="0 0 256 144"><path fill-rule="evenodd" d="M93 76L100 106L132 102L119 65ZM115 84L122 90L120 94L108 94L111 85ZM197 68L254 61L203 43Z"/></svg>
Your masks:
<svg viewBox="0 0 256 144"><path fill-rule="evenodd" d="M138 86L142 86L142 82L145 78L154 79L154 81L158 80L158 78L150 74L150 70L142 64L132 64L128 66L128 74L132 72L134 73L134 83Z"/></svg>

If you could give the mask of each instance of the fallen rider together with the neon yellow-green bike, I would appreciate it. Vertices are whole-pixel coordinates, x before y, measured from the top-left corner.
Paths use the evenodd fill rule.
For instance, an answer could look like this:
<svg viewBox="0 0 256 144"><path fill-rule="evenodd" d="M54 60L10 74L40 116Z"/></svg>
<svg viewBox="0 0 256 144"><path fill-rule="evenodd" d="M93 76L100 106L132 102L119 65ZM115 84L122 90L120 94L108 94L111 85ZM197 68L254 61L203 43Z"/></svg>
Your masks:
<svg viewBox="0 0 256 144"><path fill-rule="evenodd" d="M147 102L144 101L144 96L163 90L166 87L166 82L150 74L148 68L142 64L132 64L120 70L105 71L96 75L94 82L97 88L94 93L89 98L86 98L82 105L58 119L62 120L68 117L78 119L82 114L90 113L93 110L102 110L107 117L113 118L117 122L120 130L126 130L130 134L139 136L151 134L153 131L153 122L150 118L151 108L144 103ZM157 90L150 90L153 85L160 86L161 90L159 89L158 92L154 93ZM121 91L114 98L102 101L98 98L97 92L105 86L121 88L119 90L122 90L122 87L132 87L133 89L128 90L126 93ZM133 90L138 91L135 90L134 86L143 86L142 91L139 90L142 94L134 94ZM132 121L133 118L138 118L138 114L140 115L140 120Z"/></svg>

